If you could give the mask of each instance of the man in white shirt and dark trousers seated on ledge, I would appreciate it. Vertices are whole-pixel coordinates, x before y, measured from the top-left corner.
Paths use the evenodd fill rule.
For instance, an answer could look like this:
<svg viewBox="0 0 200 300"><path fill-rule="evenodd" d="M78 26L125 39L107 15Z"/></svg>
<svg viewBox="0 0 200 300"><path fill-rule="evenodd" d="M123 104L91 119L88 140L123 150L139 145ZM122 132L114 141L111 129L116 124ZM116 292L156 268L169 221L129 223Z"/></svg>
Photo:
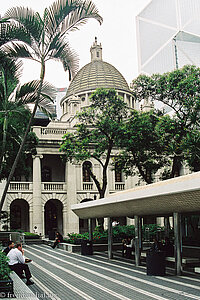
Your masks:
<svg viewBox="0 0 200 300"><path fill-rule="evenodd" d="M20 278L24 278L24 276L22 275L24 271L27 279L26 284L34 284L34 282L30 280L32 275L28 265L25 263L24 250L22 249L22 244L17 244L16 248L11 249L8 252L7 257L9 258L8 264L11 270L14 271Z"/></svg>

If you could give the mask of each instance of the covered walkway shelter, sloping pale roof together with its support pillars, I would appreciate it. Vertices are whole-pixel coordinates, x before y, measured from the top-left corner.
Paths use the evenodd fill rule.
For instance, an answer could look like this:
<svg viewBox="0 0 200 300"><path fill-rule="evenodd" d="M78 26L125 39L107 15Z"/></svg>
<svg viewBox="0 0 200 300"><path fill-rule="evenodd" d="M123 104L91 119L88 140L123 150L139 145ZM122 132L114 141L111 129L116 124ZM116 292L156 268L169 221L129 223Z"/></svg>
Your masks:
<svg viewBox="0 0 200 300"><path fill-rule="evenodd" d="M112 258L112 217L135 218L135 257L140 265L141 217L173 216L176 274L182 272L181 214L200 212L200 172L114 193L71 206L80 218L108 218L108 256ZM91 222L90 222L91 223Z"/></svg>

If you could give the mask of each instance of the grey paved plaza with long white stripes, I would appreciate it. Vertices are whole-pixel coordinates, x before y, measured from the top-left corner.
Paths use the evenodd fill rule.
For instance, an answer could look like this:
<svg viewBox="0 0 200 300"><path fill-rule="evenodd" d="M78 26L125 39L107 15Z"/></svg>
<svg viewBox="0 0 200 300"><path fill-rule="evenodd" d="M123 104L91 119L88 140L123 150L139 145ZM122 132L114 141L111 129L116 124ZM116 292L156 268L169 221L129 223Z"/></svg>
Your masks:
<svg viewBox="0 0 200 300"><path fill-rule="evenodd" d="M200 276L147 276L145 266L105 253L83 256L47 245L25 246L35 284L30 289L39 299L149 300L200 299Z"/></svg>

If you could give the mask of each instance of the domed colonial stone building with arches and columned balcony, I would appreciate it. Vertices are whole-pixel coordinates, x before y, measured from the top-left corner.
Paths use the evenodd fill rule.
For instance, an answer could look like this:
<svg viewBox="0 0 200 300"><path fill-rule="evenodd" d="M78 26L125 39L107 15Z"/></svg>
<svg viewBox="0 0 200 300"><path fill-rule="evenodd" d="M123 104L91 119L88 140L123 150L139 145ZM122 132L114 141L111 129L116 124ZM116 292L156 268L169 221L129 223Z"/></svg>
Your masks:
<svg viewBox="0 0 200 300"><path fill-rule="evenodd" d="M49 231L83 232L87 222L79 220L71 211L72 204L98 199L98 191L90 180L84 165L91 164L97 177L100 165L90 160L83 164L64 164L60 157L59 143L63 135L73 131L75 114L89 106L91 93L99 87L115 88L129 107L135 108L129 86L121 73L102 59L102 47L95 39L91 49L91 62L85 65L69 85L61 100L62 116L47 126L33 126L39 138L37 154L29 162L29 178L12 181L4 204L10 211L12 229L47 235ZM125 179L123 174L108 170L107 194L134 187L137 178Z"/></svg>

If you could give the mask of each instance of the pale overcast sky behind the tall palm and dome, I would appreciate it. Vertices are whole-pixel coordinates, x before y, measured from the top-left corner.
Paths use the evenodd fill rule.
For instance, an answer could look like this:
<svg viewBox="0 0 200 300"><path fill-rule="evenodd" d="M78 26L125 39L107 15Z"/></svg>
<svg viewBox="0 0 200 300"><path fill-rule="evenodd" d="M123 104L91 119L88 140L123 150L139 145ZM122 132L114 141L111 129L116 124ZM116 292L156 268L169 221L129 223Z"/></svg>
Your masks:
<svg viewBox="0 0 200 300"><path fill-rule="evenodd" d="M103 17L100 26L96 20L89 20L79 31L69 34L71 47L78 53L80 68L90 62L90 46L95 36L103 48L103 60L115 66L125 77L128 84L138 75L135 16L151 0L93 0ZM49 7L52 0L1 0L0 14L8 8L29 6L40 14ZM26 60L21 81L38 79L39 64ZM45 80L56 87L67 87L68 74L62 64L49 62L46 66Z"/></svg>

